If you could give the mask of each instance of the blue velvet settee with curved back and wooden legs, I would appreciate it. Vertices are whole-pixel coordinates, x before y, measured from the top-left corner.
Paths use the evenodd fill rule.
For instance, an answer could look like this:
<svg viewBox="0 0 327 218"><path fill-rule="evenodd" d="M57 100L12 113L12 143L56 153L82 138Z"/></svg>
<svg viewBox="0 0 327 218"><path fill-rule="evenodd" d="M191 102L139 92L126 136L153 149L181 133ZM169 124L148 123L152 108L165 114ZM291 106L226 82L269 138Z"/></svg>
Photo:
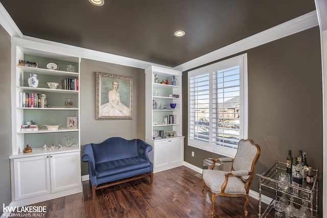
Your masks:
<svg viewBox="0 0 327 218"><path fill-rule="evenodd" d="M152 146L141 139L108 138L99 144L86 144L82 161L88 162L92 199L96 190L150 176L153 181L153 163L148 153Z"/></svg>

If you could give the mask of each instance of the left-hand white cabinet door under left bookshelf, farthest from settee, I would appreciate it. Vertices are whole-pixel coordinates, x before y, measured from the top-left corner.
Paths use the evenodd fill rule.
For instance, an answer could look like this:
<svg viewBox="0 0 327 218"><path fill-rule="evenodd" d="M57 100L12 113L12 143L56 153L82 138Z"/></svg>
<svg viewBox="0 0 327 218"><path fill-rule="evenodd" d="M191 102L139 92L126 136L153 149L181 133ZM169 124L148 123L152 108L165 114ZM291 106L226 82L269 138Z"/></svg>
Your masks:
<svg viewBox="0 0 327 218"><path fill-rule="evenodd" d="M49 156L17 158L13 162L16 201L51 192Z"/></svg>

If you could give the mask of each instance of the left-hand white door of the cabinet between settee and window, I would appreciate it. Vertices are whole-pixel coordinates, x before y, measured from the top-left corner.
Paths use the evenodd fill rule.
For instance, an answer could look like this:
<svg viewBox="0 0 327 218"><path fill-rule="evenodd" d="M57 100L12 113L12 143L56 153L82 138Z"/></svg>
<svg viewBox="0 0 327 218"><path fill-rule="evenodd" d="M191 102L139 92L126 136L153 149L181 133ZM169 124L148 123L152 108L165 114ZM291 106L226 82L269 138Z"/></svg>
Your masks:
<svg viewBox="0 0 327 218"><path fill-rule="evenodd" d="M153 164L154 168L169 165L170 153L169 153L169 142L168 140L154 142L153 148Z"/></svg>

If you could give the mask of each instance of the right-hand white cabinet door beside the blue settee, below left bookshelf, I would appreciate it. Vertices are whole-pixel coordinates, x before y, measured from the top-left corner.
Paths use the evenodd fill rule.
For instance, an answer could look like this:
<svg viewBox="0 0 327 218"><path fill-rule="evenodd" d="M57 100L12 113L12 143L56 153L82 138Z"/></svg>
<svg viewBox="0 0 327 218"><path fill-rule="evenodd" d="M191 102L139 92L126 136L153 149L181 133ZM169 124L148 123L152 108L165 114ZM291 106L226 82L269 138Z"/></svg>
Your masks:
<svg viewBox="0 0 327 218"><path fill-rule="evenodd" d="M50 162L53 193L81 186L80 152L51 155Z"/></svg>

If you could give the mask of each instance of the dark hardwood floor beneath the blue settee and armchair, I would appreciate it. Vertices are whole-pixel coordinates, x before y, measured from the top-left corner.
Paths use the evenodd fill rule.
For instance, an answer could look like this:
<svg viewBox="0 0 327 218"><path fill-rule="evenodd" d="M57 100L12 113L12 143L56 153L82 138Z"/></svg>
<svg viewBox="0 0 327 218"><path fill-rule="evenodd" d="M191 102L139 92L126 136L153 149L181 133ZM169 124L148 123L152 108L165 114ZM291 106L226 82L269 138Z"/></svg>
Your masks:
<svg viewBox="0 0 327 218"><path fill-rule="evenodd" d="M180 166L154 174L153 184L148 177L97 190L96 200L85 181L81 193L31 206L46 206L44 217L211 217L209 192L196 174ZM214 217L244 217L243 205L244 198L217 197ZM248 211L258 217L258 200L250 198Z"/></svg>

